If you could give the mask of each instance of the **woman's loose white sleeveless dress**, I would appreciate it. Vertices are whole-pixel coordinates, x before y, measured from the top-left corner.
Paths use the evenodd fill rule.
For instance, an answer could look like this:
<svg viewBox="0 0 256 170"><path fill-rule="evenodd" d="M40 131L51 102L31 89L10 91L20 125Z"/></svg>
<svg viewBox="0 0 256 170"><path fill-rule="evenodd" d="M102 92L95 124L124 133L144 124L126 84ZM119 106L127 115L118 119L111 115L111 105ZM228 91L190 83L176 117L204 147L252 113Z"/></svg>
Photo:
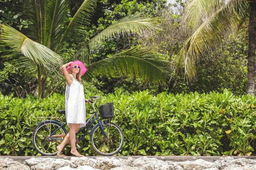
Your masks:
<svg viewBox="0 0 256 170"><path fill-rule="evenodd" d="M84 101L84 86L73 78L73 82L70 86L66 85L65 92L65 112L67 126L70 127L70 123L80 124L80 127L86 125L85 116L85 101Z"/></svg>

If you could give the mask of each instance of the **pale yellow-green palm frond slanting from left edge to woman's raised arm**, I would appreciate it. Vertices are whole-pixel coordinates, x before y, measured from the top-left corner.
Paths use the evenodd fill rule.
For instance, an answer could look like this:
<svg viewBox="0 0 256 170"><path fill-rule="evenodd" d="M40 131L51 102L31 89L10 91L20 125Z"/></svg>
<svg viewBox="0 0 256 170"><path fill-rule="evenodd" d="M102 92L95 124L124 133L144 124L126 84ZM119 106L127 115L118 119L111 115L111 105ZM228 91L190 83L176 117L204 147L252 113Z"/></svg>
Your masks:
<svg viewBox="0 0 256 170"><path fill-rule="evenodd" d="M33 62L52 71L59 71L62 65L61 57L44 45L30 40L28 37L6 24L0 25L1 39L12 50L21 52Z"/></svg>

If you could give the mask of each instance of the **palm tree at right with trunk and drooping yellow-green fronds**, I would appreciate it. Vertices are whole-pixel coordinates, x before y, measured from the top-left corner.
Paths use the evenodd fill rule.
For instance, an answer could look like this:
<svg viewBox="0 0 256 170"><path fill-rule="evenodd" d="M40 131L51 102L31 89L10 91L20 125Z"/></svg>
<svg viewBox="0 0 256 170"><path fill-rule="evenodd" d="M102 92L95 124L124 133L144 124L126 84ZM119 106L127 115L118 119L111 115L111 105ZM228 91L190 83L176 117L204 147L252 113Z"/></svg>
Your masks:
<svg viewBox="0 0 256 170"><path fill-rule="evenodd" d="M256 49L256 0L189 0L184 22L192 34L175 57L176 69L186 79L196 74L195 62L207 55L209 48L221 43L230 31L246 30L248 40L248 94L254 94ZM180 64L182 63L182 64Z"/></svg>

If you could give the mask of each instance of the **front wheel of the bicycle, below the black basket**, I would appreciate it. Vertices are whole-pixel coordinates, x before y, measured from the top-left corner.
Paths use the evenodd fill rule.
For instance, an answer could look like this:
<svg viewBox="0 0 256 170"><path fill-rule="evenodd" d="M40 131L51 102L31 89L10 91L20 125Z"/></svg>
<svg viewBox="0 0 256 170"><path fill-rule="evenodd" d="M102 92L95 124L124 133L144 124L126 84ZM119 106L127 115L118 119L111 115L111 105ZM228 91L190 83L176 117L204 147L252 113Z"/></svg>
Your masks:
<svg viewBox="0 0 256 170"><path fill-rule="evenodd" d="M104 124L103 129L108 136L107 138L100 130L99 124L93 128L90 135L90 141L93 149L103 156L111 156L118 153L124 144L124 135L122 130L112 122Z"/></svg>

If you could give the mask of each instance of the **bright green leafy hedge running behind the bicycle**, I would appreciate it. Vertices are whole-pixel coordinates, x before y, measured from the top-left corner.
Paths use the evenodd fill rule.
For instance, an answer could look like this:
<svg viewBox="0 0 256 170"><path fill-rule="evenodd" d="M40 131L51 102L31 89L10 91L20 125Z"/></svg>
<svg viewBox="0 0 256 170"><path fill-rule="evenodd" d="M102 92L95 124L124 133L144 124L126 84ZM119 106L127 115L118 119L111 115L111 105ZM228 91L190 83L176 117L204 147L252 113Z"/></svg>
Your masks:
<svg viewBox="0 0 256 170"><path fill-rule="evenodd" d="M87 96L88 97L88 96ZM167 94L148 91L102 96L101 104L114 102L112 120L121 127L125 143L118 155L250 155L254 151L256 98L252 95ZM0 155L38 155L32 131L38 117L63 116L64 96L47 99L13 98L0 94ZM87 105L87 116L91 106ZM79 152L95 155L89 135L79 142ZM68 154L70 146L65 150Z"/></svg>

